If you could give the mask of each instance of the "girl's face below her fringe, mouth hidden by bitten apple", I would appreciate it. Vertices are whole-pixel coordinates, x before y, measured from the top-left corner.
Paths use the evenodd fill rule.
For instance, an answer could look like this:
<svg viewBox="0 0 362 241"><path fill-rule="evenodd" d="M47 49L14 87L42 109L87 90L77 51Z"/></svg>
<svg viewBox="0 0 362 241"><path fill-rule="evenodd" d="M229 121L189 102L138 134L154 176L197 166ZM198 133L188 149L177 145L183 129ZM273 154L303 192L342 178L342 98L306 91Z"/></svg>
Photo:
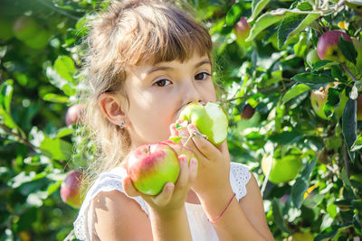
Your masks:
<svg viewBox="0 0 362 241"><path fill-rule="evenodd" d="M143 63L126 69L126 110L133 147L167 140L169 125L190 102L215 101L212 66L207 56L180 62Z"/></svg>

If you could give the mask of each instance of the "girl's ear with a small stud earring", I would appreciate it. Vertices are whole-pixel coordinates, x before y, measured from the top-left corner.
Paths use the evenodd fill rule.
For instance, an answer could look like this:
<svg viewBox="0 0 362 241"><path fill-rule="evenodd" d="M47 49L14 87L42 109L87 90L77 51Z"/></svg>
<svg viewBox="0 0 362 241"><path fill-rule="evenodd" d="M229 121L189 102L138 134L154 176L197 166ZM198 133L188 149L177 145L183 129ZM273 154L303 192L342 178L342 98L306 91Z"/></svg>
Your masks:
<svg viewBox="0 0 362 241"><path fill-rule="evenodd" d="M98 104L105 116L114 125L120 125L125 121L126 115L120 105L120 99L110 93L102 93L98 98Z"/></svg>

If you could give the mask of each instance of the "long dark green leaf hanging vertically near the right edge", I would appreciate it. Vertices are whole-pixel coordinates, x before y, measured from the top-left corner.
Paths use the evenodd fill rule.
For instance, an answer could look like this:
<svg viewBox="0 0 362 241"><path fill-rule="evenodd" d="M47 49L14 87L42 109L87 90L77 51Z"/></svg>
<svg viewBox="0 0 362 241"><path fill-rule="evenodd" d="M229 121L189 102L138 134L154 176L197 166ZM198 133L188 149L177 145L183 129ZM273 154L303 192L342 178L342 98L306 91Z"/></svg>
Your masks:
<svg viewBox="0 0 362 241"><path fill-rule="evenodd" d="M348 150L357 140L357 101L348 99L342 116L342 131ZM353 158L351 158L353 160Z"/></svg>

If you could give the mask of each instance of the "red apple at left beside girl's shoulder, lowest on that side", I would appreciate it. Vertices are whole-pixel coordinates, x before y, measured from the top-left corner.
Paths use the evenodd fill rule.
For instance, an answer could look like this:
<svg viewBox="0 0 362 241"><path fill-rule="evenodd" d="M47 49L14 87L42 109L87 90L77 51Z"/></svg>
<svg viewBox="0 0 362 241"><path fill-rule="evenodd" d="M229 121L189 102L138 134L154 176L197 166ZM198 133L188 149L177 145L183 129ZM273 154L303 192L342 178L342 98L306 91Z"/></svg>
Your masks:
<svg viewBox="0 0 362 241"><path fill-rule="evenodd" d="M62 201L74 209L81 207L81 171L70 171L62 181L61 198Z"/></svg>

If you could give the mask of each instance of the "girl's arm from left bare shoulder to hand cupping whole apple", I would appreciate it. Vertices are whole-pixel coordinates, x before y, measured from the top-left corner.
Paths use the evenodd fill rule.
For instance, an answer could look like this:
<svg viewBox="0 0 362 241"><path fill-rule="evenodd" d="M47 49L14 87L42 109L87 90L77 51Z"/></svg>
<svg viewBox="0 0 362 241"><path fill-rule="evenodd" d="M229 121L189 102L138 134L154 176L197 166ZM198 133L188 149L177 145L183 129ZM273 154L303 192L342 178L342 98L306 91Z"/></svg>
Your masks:
<svg viewBox="0 0 362 241"><path fill-rule="evenodd" d="M123 189L129 196L141 196L148 202L149 219L136 201L119 191L100 192L93 199L92 230L100 240L192 240L186 217L185 200L195 181L197 161L188 166L185 155L179 157L180 174L175 184L168 182L157 196L136 190L129 177Z"/></svg>

